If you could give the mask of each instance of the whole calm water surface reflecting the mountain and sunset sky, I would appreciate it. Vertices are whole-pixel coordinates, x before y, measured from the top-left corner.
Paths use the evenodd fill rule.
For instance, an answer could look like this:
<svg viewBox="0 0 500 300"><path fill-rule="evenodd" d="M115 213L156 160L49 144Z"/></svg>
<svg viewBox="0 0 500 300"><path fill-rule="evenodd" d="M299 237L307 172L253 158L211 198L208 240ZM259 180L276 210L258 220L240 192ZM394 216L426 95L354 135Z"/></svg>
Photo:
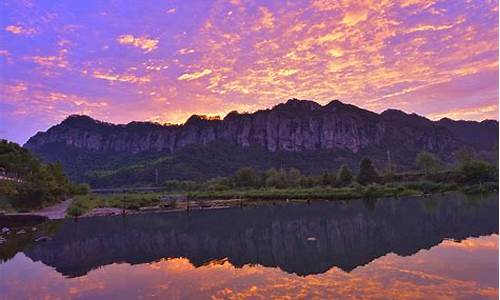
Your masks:
<svg viewBox="0 0 500 300"><path fill-rule="evenodd" d="M498 195L67 220L0 255L2 299L495 299Z"/></svg>

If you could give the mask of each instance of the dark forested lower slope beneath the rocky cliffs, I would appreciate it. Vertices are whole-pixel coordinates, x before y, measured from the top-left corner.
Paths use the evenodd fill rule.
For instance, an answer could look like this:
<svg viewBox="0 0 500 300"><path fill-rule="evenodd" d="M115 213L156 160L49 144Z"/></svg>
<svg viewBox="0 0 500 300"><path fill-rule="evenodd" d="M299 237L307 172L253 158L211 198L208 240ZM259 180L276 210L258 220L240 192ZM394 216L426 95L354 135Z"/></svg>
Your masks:
<svg viewBox="0 0 500 300"><path fill-rule="evenodd" d="M68 176L92 187L152 186L166 180L206 181L229 177L239 168L252 166L257 172L270 169L297 169L302 174L323 175L335 173L347 164L357 174L359 157L369 157L373 165L384 173L393 174L415 170L418 151L406 145L390 145L392 164L387 155L376 149L365 148L358 153L344 150L317 150L303 152L269 152L263 147L240 147L225 141L207 145L188 145L174 153L141 152L116 153L88 151L80 148L47 144L35 154L47 162L60 162ZM42 151L43 150L43 151ZM494 155L477 153L476 156L496 164ZM441 159L440 157L435 157ZM448 160L447 163L450 163ZM446 163L446 161L445 161ZM397 164L397 168L396 168ZM432 172L430 172L432 173ZM158 175L158 177L156 176ZM328 176L326 176L328 177ZM157 181L158 178L158 181ZM331 179L331 178L330 178ZM326 180L329 180L328 178Z"/></svg>

